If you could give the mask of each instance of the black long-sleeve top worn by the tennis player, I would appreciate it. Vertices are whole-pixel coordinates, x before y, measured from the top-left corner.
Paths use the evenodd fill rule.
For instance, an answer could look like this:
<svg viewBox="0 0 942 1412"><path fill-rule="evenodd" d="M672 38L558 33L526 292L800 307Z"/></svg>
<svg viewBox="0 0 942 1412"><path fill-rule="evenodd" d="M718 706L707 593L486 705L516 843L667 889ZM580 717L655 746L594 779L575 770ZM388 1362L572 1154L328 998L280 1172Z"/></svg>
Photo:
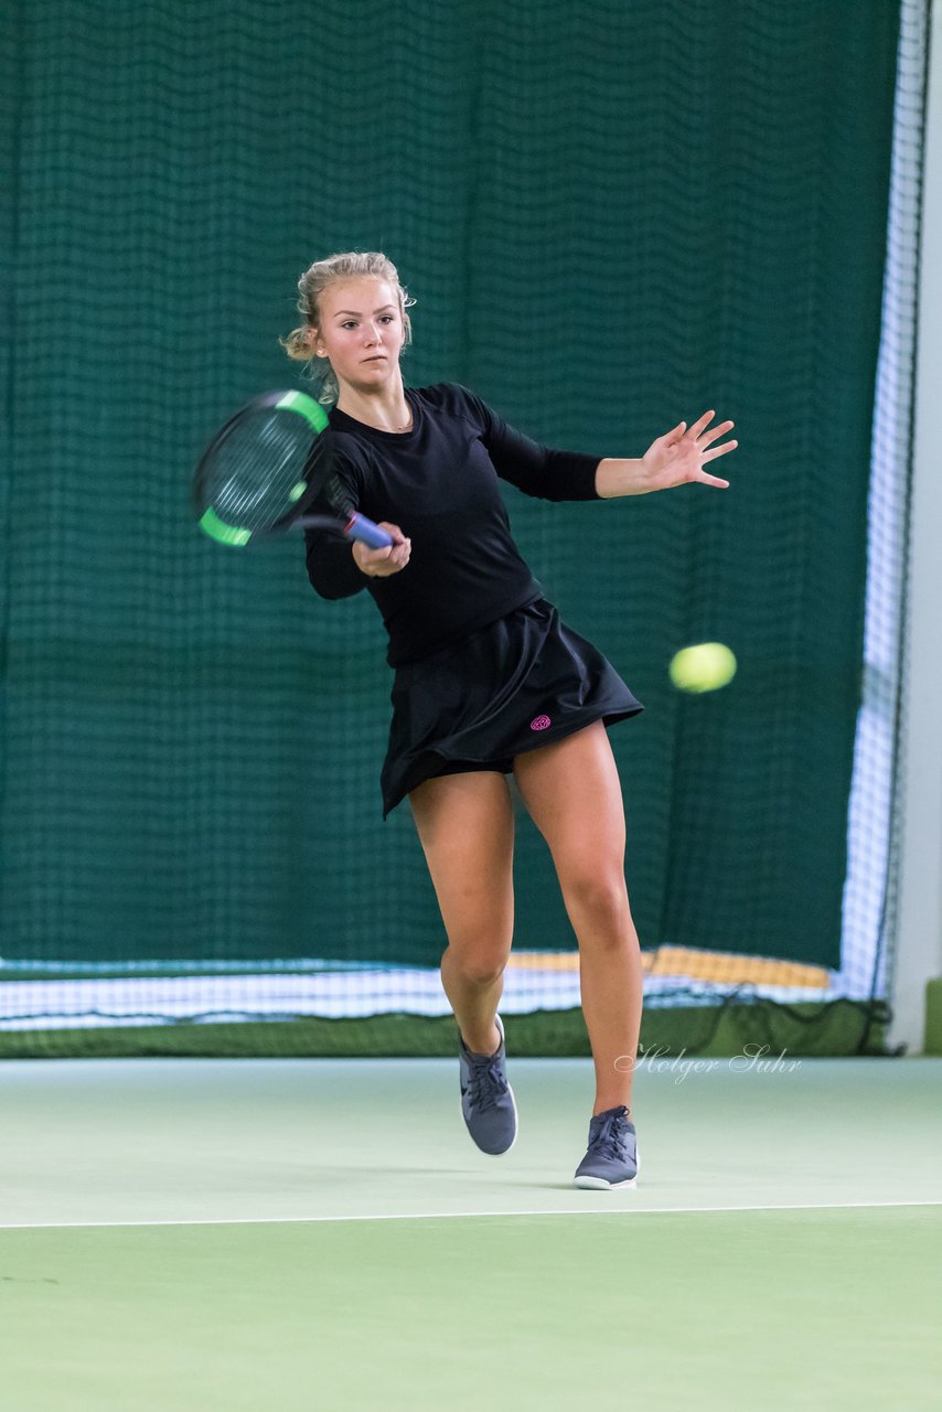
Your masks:
<svg viewBox="0 0 942 1412"><path fill-rule="evenodd" d="M549 450L458 384L407 388L408 432L384 432L333 408L339 498L412 541L408 565L364 575L349 539L306 532L308 576L325 599L366 589L390 635L391 666L427 657L542 596L510 534L497 477L542 500L597 500L597 456ZM319 505L315 503L311 511ZM326 508L326 505L323 507Z"/></svg>

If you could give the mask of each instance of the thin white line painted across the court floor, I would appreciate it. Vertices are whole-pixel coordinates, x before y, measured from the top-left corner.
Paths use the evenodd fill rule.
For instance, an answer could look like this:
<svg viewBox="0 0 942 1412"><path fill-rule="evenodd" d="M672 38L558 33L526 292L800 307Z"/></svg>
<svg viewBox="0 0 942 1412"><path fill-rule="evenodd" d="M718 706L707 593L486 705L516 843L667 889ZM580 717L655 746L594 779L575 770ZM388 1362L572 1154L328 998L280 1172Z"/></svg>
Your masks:
<svg viewBox="0 0 942 1412"><path fill-rule="evenodd" d="M198 1219L184 1221L0 1221L3 1231L44 1231L44 1230L105 1230L105 1228L138 1228L150 1226L314 1226L321 1221L445 1221L487 1219L497 1216L699 1216L715 1211L850 1211L877 1210L884 1207L904 1206L942 1206L942 1200L931 1202L808 1202L805 1204L782 1206L643 1206L631 1210L630 1206L617 1206L614 1210L589 1210L589 1207L572 1209L555 1207L535 1211L507 1210L507 1211L393 1211L383 1216L232 1216L220 1219Z"/></svg>

